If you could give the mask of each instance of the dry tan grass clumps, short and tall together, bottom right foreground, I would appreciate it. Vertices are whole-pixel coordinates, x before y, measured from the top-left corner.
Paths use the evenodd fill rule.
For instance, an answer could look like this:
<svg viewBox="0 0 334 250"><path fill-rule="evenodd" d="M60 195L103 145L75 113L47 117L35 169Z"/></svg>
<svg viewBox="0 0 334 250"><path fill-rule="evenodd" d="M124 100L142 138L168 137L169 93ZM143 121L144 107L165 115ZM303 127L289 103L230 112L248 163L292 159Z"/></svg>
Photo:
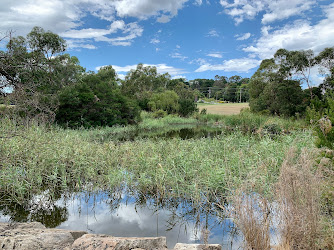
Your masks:
<svg viewBox="0 0 334 250"><path fill-rule="evenodd" d="M252 179L230 198L232 217L246 249L333 249L333 217L326 212L328 201L323 199L328 183L324 168L316 164L318 153L289 150L271 199L252 193Z"/></svg>

